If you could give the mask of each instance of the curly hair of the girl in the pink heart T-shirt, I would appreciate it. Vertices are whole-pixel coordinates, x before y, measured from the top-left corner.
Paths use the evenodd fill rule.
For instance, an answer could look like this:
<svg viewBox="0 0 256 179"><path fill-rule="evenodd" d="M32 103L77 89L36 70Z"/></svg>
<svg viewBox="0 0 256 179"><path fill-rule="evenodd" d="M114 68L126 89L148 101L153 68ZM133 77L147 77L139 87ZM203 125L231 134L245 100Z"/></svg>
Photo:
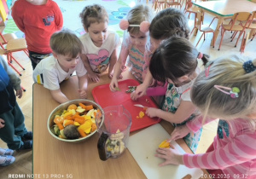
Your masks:
<svg viewBox="0 0 256 179"><path fill-rule="evenodd" d="M93 4L93 5L84 7L82 12L79 14L79 17L81 18L82 24L85 29L88 29L90 27L90 24L93 24L95 22L108 23L107 10L99 4Z"/></svg>

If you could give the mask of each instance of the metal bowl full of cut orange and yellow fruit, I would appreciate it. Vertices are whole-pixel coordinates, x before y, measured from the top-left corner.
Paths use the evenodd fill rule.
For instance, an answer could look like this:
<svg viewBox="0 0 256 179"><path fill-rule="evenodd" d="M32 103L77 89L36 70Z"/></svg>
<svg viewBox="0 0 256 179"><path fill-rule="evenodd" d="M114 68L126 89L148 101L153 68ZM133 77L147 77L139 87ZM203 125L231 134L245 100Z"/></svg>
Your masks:
<svg viewBox="0 0 256 179"><path fill-rule="evenodd" d="M96 102L72 100L62 103L49 114L47 128L55 139L79 142L93 136L104 121L104 111Z"/></svg>

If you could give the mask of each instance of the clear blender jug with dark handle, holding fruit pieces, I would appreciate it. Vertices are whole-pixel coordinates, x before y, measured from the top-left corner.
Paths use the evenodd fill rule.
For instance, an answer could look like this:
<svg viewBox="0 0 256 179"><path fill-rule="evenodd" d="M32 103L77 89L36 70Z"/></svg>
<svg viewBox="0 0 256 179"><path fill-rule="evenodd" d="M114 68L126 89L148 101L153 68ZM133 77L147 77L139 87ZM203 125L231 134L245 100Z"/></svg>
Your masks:
<svg viewBox="0 0 256 179"><path fill-rule="evenodd" d="M118 158L124 153L131 129L131 113L123 105L105 107L104 121L99 126L97 143L100 159ZM99 123L96 123L99 124Z"/></svg>

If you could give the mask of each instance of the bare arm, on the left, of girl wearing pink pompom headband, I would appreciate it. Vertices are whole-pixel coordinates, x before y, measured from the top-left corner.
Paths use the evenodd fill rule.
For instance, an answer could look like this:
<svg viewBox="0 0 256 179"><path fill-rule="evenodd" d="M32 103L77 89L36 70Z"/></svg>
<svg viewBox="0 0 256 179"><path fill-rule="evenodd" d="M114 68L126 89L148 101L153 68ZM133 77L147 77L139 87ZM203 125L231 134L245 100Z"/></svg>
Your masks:
<svg viewBox="0 0 256 179"><path fill-rule="evenodd" d="M109 88L112 91L116 91L116 88L119 88L118 78L121 75L122 69L125 67L125 61L128 55L129 55L129 50L124 46L122 46L119 54L119 60L115 63L115 66L113 69L113 78L111 79L111 82L109 84Z"/></svg>

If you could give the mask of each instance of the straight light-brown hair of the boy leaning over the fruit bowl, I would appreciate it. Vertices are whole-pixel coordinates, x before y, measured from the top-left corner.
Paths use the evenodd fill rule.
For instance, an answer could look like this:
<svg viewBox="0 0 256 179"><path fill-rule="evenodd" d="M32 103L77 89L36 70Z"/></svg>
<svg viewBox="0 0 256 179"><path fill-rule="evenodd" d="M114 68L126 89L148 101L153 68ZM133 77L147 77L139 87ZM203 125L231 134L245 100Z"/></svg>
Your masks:
<svg viewBox="0 0 256 179"><path fill-rule="evenodd" d="M71 31L63 29L55 32L49 40L50 48L59 55L70 55L75 58L82 53L83 44Z"/></svg>

